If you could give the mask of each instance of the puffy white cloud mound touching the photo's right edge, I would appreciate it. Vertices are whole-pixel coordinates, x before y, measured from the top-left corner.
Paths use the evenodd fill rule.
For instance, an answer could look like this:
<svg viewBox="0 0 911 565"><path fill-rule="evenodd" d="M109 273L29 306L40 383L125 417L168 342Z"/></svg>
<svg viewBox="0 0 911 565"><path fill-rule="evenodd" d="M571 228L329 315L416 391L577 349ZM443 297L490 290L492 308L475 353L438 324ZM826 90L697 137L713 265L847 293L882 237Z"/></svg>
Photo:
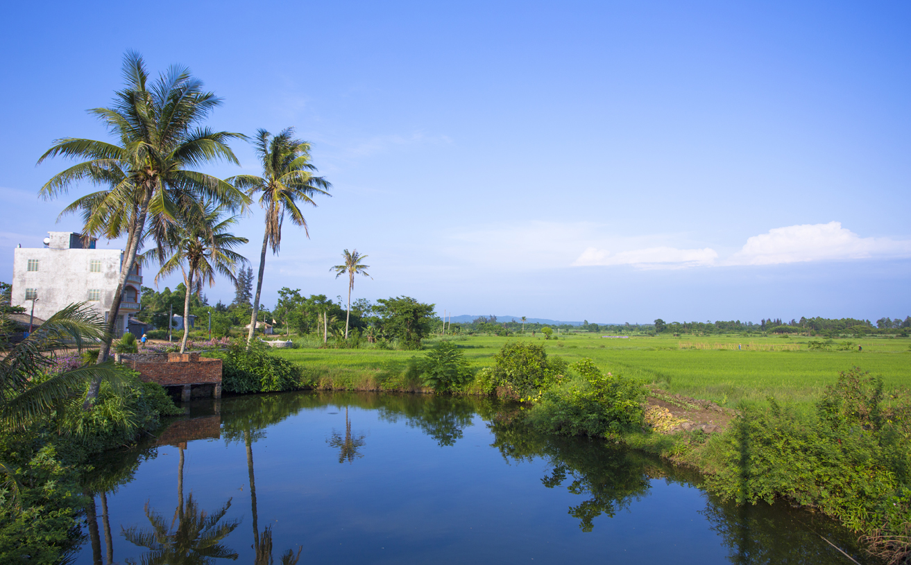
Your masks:
<svg viewBox="0 0 911 565"><path fill-rule="evenodd" d="M779 265L804 261L911 257L911 241L860 237L841 222L776 227L747 239L724 265Z"/></svg>

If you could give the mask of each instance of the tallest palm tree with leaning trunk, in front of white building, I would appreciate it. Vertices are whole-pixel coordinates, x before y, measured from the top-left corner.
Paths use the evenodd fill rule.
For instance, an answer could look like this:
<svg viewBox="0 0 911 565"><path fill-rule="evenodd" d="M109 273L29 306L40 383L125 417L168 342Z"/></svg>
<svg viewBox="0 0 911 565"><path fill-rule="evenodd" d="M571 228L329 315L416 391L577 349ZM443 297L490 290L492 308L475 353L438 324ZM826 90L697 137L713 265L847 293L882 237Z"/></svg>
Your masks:
<svg viewBox="0 0 911 565"><path fill-rule="evenodd" d="M182 66L171 66L150 83L142 57L134 52L125 55L123 73L126 86L116 93L113 105L89 110L107 126L116 142L65 137L57 139L38 159L39 164L55 156L87 159L51 177L40 195L57 197L83 180L103 186L79 198L63 213L81 211L89 236L127 236L99 363L107 360L124 284L148 228L160 232L174 221L180 209L194 207L200 197L230 207L249 203L249 198L229 183L190 170L217 159L238 163L227 142L244 136L198 126L220 106L221 99L204 91L200 80ZM99 380L92 383L86 408L97 398L99 387Z"/></svg>

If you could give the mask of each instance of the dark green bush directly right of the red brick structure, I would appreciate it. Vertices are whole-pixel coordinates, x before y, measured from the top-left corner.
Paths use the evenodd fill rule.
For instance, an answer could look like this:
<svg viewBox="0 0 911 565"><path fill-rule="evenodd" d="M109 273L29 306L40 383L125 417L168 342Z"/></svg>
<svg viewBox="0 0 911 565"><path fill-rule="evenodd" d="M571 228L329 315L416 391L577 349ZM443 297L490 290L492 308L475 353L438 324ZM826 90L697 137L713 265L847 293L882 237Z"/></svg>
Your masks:
<svg viewBox="0 0 911 565"><path fill-rule="evenodd" d="M278 392L301 388L301 369L291 361L275 357L259 339L247 347L245 339L231 342L225 352L210 353L207 357L222 361L221 387L227 392Z"/></svg>

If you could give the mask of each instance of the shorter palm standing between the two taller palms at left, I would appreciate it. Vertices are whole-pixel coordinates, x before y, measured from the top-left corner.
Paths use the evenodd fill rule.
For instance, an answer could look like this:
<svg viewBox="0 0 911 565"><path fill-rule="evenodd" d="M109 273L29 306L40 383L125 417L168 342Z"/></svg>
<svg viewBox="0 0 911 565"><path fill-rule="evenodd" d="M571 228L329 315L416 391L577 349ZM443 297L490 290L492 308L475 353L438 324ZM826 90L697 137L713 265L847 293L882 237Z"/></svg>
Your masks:
<svg viewBox="0 0 911 565"><path fill-rule="evenodd" d="M187 288L183 299L183 339L180 341L180 353L187 349L189 337L189 298L202 291L203 282L209 286L215 284L215 273L220 273L237 280L234 270L246 259L233 251L234 247L247 243L246 237L237 237L228 230L237 223L238 217L223 218L226 212L224 205L211 201L201 205L200 213L190 213L181 217L179 224L166 230L165 241L159 247L161 270L155 277L167 276L178 269L183 274L183 284ZM195 212L195 210L191 211ZM164 257L169 253L170 257Z"/></svg>

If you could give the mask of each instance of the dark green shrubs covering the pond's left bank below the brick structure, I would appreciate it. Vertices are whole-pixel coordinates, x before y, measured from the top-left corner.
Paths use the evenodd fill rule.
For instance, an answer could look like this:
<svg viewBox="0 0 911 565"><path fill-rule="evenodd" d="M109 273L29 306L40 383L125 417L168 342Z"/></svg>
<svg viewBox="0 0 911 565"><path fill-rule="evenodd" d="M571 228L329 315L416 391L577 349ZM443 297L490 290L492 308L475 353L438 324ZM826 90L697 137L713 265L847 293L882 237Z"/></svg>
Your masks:
<svg viewBox="0 0 911 565"><path fill-rule="evenodd" d="M58 412L0 433L0 563L67 562L67 552L83 541L89 499L79 485L92 472L92 456L180 413L164 388L130 371L118 388L103 382L87 412Z"/></svg>

